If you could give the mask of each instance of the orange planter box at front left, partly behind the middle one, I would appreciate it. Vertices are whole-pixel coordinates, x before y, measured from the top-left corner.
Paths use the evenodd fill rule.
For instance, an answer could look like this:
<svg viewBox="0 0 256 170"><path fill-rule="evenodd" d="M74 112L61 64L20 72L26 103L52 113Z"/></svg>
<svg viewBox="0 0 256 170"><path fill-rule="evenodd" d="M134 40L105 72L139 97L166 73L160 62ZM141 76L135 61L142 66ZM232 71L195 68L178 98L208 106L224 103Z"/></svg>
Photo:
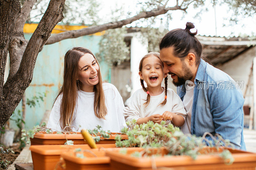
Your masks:
<svg viewBox="0 0 256 170"><path fill-rule="evenodd" d="M111 148L115 144L97 144L97 147ZM35 170L53 170L60 161L60 155L64 152L73 151L76 148L91 149L88 144L76 145L33 145L30 146L33 166ZM60 167L58 168L60 169Z"/></svg>

